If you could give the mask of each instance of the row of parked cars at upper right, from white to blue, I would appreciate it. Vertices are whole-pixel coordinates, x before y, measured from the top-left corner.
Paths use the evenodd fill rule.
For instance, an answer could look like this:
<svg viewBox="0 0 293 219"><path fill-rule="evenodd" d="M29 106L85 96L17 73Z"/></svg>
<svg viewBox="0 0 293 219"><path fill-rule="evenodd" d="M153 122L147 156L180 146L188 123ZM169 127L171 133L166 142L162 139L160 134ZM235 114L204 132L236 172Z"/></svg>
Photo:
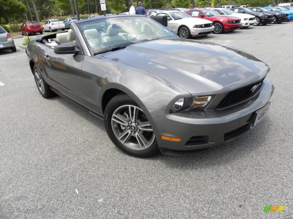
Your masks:
<svg viewBox="0 0 293 219"><path fill-rule="evenodd" d="M182 38L190 38L211 33L221 34L224 31L234 31L254 25L287 22L293 20L293 7L172 8L149 10L147 15L166 16L168 29Z"/></svg>

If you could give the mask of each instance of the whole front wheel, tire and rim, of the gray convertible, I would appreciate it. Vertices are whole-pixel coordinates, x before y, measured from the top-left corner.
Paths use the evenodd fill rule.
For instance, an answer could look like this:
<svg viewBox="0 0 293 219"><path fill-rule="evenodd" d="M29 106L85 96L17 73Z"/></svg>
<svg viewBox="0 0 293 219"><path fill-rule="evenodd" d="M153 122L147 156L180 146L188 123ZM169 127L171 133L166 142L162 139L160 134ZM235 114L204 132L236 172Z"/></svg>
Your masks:
<svg viewBox="0 0 293 219"><path fill-rule="evenodd" d="M126 154L151 157L159 152L150 122L130 96L118 94L110 100L104 124L111 141Z"/></svg>

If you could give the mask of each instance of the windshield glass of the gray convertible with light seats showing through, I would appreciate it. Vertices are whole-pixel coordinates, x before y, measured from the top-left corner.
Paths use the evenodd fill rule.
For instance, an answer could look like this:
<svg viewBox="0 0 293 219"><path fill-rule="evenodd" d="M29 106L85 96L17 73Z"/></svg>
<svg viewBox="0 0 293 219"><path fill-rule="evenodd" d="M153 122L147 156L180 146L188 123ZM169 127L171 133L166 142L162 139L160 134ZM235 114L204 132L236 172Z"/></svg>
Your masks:
<svg viewBox="0 0 293 219"><path fill-rule="evenodd" d="M77 25L94 55L144 41L178 38L173 32L145 16L87 19Z"/></svg>

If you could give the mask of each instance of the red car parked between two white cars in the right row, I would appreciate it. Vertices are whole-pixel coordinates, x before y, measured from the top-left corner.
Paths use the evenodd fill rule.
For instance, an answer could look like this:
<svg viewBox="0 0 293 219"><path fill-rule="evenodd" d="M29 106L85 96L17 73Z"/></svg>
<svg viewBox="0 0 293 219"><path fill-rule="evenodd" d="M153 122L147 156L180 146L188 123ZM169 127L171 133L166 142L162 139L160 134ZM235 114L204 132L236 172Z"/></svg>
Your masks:
<svg viewBox="0 0 293 219"><path fill-rule="evenodd" d="M239 29L242 25L240 18L236 18L231 15L220 15L216 11L210 9L193 9L185 11L185 13L189 14L193 18L204 18L212 21L215 27L215 34L220 34L224 30L234 31Z"/></svg>

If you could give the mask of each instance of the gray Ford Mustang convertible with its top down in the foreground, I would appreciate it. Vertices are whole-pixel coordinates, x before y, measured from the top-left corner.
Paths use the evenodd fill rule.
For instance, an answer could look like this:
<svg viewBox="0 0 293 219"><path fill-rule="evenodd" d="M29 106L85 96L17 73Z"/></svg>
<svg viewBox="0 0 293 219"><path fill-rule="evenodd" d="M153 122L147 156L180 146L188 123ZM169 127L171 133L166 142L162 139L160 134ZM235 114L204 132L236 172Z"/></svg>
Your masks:
<svg viewBox="0 0 293 219"><path fill-rule="evenodd" d="M76 21L30 41L40 94L103 119L123 152L184 155L233 140L268 111L269 67L252 55L181 39L140 15Z"/></svg>

